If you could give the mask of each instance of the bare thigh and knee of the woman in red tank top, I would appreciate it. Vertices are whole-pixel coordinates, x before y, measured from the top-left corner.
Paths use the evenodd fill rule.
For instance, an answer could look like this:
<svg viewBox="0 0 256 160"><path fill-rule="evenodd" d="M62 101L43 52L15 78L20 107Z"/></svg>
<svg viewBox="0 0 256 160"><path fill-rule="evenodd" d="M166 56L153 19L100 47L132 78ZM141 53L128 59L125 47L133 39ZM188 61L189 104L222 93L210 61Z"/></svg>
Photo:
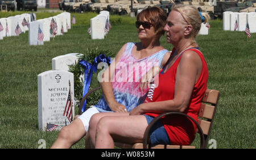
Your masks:
<svg viewBox="0 0 256 160"><path fill-rule="evenodd" d="M105 116L97 125L95 148L114 148L114 141L142 142L147 126L144 115Z"/></svg>

